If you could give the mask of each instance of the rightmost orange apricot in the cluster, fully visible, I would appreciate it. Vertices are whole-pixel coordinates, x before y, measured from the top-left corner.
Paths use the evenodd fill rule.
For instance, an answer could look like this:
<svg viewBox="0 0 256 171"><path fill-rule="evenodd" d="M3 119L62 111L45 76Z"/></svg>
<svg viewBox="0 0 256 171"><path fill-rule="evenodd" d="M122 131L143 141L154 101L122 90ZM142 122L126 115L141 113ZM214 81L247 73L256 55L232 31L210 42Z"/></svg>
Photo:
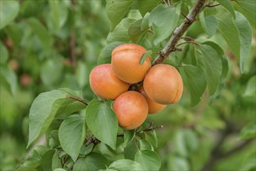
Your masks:
<svg viewBox="0 0 256 171"><path fill-rule="evenodd" d="M183 92L183 80L171 65L155 65L145 76L144 90L156 103L176 103Z"/></svg>

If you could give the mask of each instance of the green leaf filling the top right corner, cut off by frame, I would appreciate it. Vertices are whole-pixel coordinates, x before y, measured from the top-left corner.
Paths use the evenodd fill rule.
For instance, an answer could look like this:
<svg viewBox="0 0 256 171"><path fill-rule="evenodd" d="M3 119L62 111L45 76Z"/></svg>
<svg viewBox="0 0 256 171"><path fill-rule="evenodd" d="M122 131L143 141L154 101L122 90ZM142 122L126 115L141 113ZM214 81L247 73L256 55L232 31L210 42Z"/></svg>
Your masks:
<svg viewBox="0 0 256 171"><path fill-rule="evenodd" d="M244 16L248 19L251 23L251 26L256 28L256 1L254 0L236 0L237 8L236 10L243 13ZM235 3L236 5L236 3Z"/></svg>

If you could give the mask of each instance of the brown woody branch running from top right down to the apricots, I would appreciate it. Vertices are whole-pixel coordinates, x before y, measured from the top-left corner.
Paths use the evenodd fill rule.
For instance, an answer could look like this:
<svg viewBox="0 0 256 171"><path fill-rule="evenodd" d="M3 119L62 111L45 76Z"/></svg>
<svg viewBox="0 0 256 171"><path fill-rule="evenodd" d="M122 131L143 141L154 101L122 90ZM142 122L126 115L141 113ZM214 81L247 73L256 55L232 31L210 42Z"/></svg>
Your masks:
<svg viewBox="0 0 256 171"><path fill-rule="evenodd" d="M187 31L187 29L191 26L191 24L197 20L196 16L204 9L204 7L208 5L208 0L197 0L189 14L185 16L183 23L181 23L180 26L176 27L176 30L173 31L172 37L170 38L169 42L165 45L162 51L159 51L158 57L155 58L152 66L163 63L165 59L169 56L169 54L171 54L173 51L180 50L176 47L176 44L181 39L183 34ZM143 83L141 82L132 84L130 86L130 90L138 91L142 85Z"/></svg>

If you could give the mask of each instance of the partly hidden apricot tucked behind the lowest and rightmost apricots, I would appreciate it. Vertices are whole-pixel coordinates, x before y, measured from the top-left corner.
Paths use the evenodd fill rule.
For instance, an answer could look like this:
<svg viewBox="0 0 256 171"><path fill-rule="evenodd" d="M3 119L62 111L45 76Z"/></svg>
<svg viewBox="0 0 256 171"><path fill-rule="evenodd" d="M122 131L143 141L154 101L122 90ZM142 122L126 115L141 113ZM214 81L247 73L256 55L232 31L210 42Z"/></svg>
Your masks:
<svg viewBox="0 0 256 171"><path fill-rule="evenodd" d="M143 94L143 96L147 100L148 113L158 113L165 108L165 106L166 106L165 104L156 103L154 100L150 99L148 97L147 93L145 92L144 88L140 89L140 93Z"/></svg>

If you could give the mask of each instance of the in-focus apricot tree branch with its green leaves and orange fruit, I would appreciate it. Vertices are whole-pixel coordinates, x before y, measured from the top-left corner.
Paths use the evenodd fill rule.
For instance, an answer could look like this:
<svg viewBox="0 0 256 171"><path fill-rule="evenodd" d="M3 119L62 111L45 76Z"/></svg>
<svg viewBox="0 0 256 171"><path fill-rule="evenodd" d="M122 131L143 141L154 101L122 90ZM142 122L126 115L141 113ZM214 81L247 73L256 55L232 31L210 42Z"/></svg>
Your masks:
<svg viewBox="0 0 256 171"><path fill-rule="evenodd" d="M163 126L148 123L148 113L180 98L195 106L204 93L209 103L219 96L229 65L222 45L209 40L216 33L243 73L255 6L253 0L106 0L111 28L89 78L94 98L67 88L39 94L30 107L27 147L42 135L47 143L18 170L159 170L155 130ZM41 28L35 19L27 22ZM196 23L204 36L194 39ZM183 89L190 95L182 97Z"/></svg>

